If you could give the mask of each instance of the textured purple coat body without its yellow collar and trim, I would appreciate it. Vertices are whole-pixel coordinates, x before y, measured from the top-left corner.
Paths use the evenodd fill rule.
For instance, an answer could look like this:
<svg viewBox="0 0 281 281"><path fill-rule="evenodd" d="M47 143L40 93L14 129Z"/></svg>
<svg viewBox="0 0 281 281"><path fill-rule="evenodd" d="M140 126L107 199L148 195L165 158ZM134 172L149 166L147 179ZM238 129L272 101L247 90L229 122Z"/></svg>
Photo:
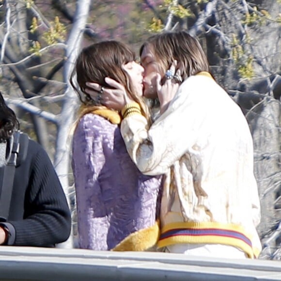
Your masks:
<svg viewBox="0 0 281 281"><path fill-rule="evenodd" d="M111 250L155 224L161 177L141 174L127 154L119 125L84 115L73 137L80 248Z"/></svg>

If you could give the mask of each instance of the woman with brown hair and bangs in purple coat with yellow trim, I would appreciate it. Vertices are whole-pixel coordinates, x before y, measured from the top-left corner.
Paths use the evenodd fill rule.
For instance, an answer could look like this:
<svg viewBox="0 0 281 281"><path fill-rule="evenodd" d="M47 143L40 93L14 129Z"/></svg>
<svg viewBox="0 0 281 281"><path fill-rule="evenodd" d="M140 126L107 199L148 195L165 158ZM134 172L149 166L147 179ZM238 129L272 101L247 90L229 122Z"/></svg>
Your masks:
<svg viewBox="0 0 281 281"><path fill-rule="evenodd" d="M150 122L142 101L143 68L129 47L104 41L85 47L71 83L81 100L73 137L72 167L78 210L79 247L93 250L148 250L157 242L157 199L161 177L141 174L126 152L121 112L101 105L103 87L114 79ZM87 81L100 84L96 98ZM77 82L77 83L76 83ZM78 84L78 86L77 86Z"/></svg>

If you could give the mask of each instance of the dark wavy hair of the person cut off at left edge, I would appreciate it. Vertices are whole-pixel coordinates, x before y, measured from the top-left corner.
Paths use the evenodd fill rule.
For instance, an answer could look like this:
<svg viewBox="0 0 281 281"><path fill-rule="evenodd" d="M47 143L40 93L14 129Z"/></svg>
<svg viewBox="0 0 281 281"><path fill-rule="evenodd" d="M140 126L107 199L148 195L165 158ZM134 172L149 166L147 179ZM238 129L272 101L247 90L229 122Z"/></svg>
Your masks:
<svg viewBox="0 0 281 281"><path fill-rule="evenodd" d="M16 119L16 114L6 105L0 93L0 142L10 139L17 129L19 129L19 122Z"/></svg>

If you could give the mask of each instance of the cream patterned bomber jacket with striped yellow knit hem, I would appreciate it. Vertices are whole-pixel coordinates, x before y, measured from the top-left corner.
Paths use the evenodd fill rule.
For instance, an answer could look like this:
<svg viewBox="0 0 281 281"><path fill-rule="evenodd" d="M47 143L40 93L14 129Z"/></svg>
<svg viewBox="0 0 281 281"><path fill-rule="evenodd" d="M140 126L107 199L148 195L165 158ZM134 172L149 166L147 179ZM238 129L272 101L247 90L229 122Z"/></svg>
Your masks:
<svg viewBox="0 0 281 281"><path fill-rule="evenodd" d="M259 255L249 126L208 73L187 78L149 129L136 114L122 121L121 132L142 173L166 174L158 247L216 243Z"/></svg>

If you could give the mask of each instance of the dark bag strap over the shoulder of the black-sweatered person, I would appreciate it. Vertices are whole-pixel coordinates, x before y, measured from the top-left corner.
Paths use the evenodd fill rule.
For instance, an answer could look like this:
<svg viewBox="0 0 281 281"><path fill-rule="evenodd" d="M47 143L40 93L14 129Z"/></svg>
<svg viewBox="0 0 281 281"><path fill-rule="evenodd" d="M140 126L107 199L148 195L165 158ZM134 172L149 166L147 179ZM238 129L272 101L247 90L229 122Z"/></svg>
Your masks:
<svg viewBox="0 0 281 281"><path fill-rule="evenodd" d="M15 177L15 170L17 165L17 158L19 155L19 142L21 134L20 131L14 133L14 142L10 159L0 172L1 196L0 196L0 221L6 221L10 211L10 203L13 193L13 184ZM25 149L27 150L27 149Z"/></svg>

